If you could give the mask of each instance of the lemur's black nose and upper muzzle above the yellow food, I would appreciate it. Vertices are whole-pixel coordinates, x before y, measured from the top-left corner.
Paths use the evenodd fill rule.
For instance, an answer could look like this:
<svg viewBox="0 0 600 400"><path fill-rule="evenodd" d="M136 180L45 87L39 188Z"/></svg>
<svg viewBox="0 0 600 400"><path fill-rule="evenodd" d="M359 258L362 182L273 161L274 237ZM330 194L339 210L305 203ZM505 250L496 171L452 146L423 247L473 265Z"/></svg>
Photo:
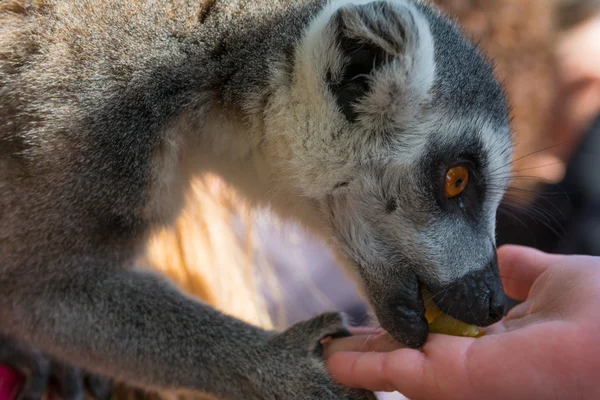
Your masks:
<svg viewBox="0 0 600 400"><path fill-rule="evenodd" d="M478 326L498 322L506 310L506 296L494 257L484 268L448 285L429 287L433 300L446 314Z"/></svg>

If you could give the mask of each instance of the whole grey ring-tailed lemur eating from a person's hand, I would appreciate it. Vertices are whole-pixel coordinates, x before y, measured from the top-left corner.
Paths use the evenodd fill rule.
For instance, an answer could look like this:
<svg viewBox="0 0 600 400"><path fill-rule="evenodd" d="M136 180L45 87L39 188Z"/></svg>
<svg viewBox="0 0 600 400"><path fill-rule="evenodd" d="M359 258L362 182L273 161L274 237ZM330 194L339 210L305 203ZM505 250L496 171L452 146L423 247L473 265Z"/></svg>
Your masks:
<svg viewBox="0 0 600 400"><path fill-rule="evenodd" d="M134 268L214 171L330 239L379 322L427 338L503 314L495 211L512 153L492 69L418 0L0 3L0 330L92 372L236 399L366 399L319 339Z"/></svg>

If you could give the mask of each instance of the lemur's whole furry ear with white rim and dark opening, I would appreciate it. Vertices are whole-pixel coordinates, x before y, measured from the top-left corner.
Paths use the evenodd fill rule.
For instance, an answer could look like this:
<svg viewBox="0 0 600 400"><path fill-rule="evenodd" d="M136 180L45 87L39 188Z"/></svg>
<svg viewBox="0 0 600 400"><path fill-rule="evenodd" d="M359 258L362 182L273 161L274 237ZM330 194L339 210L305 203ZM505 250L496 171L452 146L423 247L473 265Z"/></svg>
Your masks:
<svg viewBox="0 0 600 400"><path fill-rule="evenodd" d="M415 95L432 84L433 41L414 6L404 1L345 5L329 25L341 62L329 64L326 81L349 121L355 122L361 112L390 113L391 97L422 100ZM359 104L364 100L367 104Z"/></svg>

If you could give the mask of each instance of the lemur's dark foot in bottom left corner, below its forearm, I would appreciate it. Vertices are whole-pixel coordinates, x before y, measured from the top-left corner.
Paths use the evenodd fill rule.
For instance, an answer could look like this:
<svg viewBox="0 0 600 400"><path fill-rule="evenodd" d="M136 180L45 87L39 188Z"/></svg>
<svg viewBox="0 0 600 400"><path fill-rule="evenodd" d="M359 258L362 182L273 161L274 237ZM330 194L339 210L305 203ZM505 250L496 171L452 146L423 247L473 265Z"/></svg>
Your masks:
<svg viewBox="0 0 600 400"><path fill-rule="evenodd" d="M40 350L6 336L0 336L0 364L25 376L17 400L40 400L48 388L60 400L85 400L86 391L98 400L112 397L110 379L51 360Z"/></svg>

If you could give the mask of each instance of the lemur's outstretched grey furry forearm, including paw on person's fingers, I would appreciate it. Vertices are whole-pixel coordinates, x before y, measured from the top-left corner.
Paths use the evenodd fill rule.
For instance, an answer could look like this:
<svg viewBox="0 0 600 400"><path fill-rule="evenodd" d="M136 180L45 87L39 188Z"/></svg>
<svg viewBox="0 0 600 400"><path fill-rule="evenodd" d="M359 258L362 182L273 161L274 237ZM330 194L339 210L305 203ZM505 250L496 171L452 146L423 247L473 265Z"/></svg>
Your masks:
<svg viewBox="0 0 600 400"><path fill-rule="evenodd" d="M227 399L350 393L328 377L319 354L321 338L345 332L339 314L276 334L195 301L153 274L88 271L94 272L44 286L43 293L34 285L35 296L17 294L10 301L18 308L1 319L10 317L13 334L69 362L145 387Z"/></svg>

